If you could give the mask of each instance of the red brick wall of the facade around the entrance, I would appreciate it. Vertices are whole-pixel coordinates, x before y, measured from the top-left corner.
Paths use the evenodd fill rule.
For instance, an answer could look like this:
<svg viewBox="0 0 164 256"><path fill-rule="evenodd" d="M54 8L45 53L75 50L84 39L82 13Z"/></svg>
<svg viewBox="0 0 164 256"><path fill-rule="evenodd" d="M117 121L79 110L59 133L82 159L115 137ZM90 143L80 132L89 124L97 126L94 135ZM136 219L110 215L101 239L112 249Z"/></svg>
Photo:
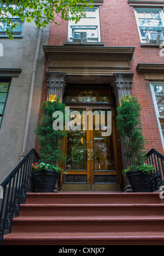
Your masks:
<svg viewBox="0 0 164 256"><path fill-rule="evenodd" d="M158 2L158 1L156 1ZM147 150L155 148L163 154L159 127L157 124L153 98L150 85L144 80L143 74L136 71L138 63L164 63L164 57L160 56L161 48L141 47L136 17L133 7L127 0L104 0L99 7L101 23L101 39L104 46L135 46L136 50L129 62L130 72L134 73L133 96L136 96L142 106L143 134L147 138ZM57 18L58 22L62 20ZM64 21L60 26L51 24L49 45L63 45L67 42L68 22ZM45 71L47 71L46 60ZM46 100L46 78L44 77L42 100ZM40 115L39 115L40 118Z"/></svg>

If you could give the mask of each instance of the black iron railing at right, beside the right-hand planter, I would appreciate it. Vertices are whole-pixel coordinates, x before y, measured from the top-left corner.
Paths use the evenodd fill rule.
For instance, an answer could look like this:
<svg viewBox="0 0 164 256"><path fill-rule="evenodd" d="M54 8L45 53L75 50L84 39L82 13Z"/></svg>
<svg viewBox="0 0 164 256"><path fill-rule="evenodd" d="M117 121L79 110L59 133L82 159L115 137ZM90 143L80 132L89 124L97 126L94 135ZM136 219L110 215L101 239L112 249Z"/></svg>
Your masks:
<svg viewBox="0 0 164 256"><path fill-rule="evenodd" d="M151 192L153 192L160 189L160 187L164 184L164 156L153 148L147 154L147 158L148 164L156 167L156 170L153 171L153 180L151 186Z"/></svg>

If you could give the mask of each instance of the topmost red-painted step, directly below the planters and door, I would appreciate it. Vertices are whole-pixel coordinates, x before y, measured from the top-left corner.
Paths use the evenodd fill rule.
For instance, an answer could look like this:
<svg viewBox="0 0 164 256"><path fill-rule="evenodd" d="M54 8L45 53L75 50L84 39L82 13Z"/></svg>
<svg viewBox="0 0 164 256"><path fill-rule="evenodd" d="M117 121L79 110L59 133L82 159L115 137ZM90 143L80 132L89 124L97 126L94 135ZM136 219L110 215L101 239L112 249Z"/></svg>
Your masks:
<svg viewBox="0 0 164 256"><path fill-rule="evenodd" d="M28 193L26 203L34 204L124 204L124 203L164 203L159 193L97 193L97 192L60 192Z"/></svg>

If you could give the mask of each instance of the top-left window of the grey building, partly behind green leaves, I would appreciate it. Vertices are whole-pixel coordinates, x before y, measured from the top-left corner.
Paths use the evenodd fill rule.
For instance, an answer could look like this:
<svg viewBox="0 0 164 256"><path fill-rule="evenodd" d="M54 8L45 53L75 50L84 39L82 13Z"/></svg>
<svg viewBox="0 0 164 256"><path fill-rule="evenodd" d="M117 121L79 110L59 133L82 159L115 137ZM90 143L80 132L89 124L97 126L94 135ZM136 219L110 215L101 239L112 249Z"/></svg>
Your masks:
<svg viewBox="0 0 164 256"><path fill-rule="evenodd" d="M12 5L13 8L16 8L16 5ZM14 36L16 35L20 35L22 32L22 28L24 25L24 21L22 21L20 19L20 17L12 17L10 15L10 13L7 13L8 18L10 18L12 20L12 24L17 24L13 30L14 32ZM5 20L3 22L0 22L0 36L5 35L6 34L6 28L7 28L7 22L5 22Z"/></svg>

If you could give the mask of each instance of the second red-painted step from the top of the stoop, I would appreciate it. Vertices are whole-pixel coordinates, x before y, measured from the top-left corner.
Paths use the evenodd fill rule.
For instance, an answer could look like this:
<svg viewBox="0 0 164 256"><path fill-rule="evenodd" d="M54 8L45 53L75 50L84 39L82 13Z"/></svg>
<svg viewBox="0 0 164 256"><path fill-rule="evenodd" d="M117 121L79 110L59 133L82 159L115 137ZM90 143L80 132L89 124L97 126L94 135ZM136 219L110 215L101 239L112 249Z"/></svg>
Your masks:
<svg viewBox="0 0 164 256"><path fill-rule="evenodd" d="M53 216L163 216L164 204L25 204L21 205L20 217Z"/></svg>

